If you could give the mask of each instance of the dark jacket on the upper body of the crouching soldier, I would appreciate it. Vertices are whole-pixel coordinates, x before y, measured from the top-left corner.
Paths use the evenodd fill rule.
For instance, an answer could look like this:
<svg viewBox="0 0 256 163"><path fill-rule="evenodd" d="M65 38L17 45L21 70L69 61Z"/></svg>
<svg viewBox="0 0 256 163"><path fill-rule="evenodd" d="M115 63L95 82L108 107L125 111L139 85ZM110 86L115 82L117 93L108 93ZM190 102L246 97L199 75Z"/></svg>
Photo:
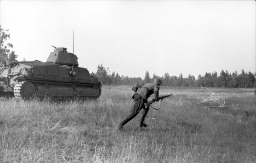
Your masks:
<svg viewBox="0 0 256 163"><path fill-rule="evenodd" d="M158 98L159 89L159 85L154 83L147 83L138 89L135 94L139 94L142 98L147 100L148 97L154 93L155 98Z"/></svg>

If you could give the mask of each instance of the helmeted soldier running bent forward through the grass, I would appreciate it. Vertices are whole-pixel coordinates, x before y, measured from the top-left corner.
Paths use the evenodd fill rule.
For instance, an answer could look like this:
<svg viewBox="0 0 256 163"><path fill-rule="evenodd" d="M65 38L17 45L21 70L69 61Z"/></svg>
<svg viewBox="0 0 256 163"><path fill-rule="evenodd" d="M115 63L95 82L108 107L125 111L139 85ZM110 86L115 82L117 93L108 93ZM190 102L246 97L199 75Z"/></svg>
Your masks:
<svg viewBox="0 0 256 163"><path fill-rule="evenodd" d="M134 100L134 104L132 110L128 116L124 118L124 120L118 125L118 129L122 130L124 124L132 120L139 112L141 111L141 118L140 118L140 127L147 127L147 124L144 124L144 118L146 117L149 107L145 108L144 103L148 102L148 97L154 93L156 101L159 101L158 98L158 91L160 89L161 80L154 79L153 83L146 83L138 89L135 94L132 96Z"/></svg>

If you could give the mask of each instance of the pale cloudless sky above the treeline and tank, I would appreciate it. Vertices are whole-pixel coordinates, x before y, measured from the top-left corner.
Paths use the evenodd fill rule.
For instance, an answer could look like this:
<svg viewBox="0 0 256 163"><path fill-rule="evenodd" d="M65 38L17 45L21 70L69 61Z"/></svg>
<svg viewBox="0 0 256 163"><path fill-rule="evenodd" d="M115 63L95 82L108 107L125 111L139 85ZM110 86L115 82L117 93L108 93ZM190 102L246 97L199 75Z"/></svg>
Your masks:
<svg viewBox="0 0 256 163"><path fill-rule="evenodd" d="M17 60L66 47L79 67L120 76L256 72L254 0L1 0ZM52 45L52 46L51 46Z"/></svg>

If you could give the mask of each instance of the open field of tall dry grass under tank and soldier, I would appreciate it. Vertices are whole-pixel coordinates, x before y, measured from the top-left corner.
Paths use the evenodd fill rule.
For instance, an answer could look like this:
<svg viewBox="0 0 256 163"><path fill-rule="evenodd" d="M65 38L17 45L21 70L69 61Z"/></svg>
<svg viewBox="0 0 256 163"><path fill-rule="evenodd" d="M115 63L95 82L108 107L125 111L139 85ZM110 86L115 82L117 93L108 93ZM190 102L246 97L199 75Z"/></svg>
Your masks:
<svg viewBox="0 0 256 163"><path fill-rule="evenodd" d="M254 89L161 87L160 110L116 130L129 112L129 86L103 86L95 101L0 99L0 162L255 163ZM221 105L223 100L217 100ZM154 103L158 106L159 103Z"/></svg>

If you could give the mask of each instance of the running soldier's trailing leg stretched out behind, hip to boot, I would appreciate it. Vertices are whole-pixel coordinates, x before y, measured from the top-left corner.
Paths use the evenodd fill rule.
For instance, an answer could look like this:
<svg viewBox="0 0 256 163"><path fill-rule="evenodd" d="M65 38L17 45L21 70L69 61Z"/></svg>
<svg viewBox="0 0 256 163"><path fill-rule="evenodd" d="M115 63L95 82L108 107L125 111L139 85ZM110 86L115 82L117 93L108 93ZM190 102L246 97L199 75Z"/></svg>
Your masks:
<svg viewBox="0 0 256 163"><path fill-rule="evenodd" d="M132 118L136 117L136 115L140 112L141 110L141 106L143 106L143 99L141 100L141 96L138 94L135 94L134 96L134 104L132 107L132 110L130 111L130 114L128 116L126 116L123 121L118 125L118 129L121 130L123 128L123 126L129 122L130 120L132 120Z"/></svg>

